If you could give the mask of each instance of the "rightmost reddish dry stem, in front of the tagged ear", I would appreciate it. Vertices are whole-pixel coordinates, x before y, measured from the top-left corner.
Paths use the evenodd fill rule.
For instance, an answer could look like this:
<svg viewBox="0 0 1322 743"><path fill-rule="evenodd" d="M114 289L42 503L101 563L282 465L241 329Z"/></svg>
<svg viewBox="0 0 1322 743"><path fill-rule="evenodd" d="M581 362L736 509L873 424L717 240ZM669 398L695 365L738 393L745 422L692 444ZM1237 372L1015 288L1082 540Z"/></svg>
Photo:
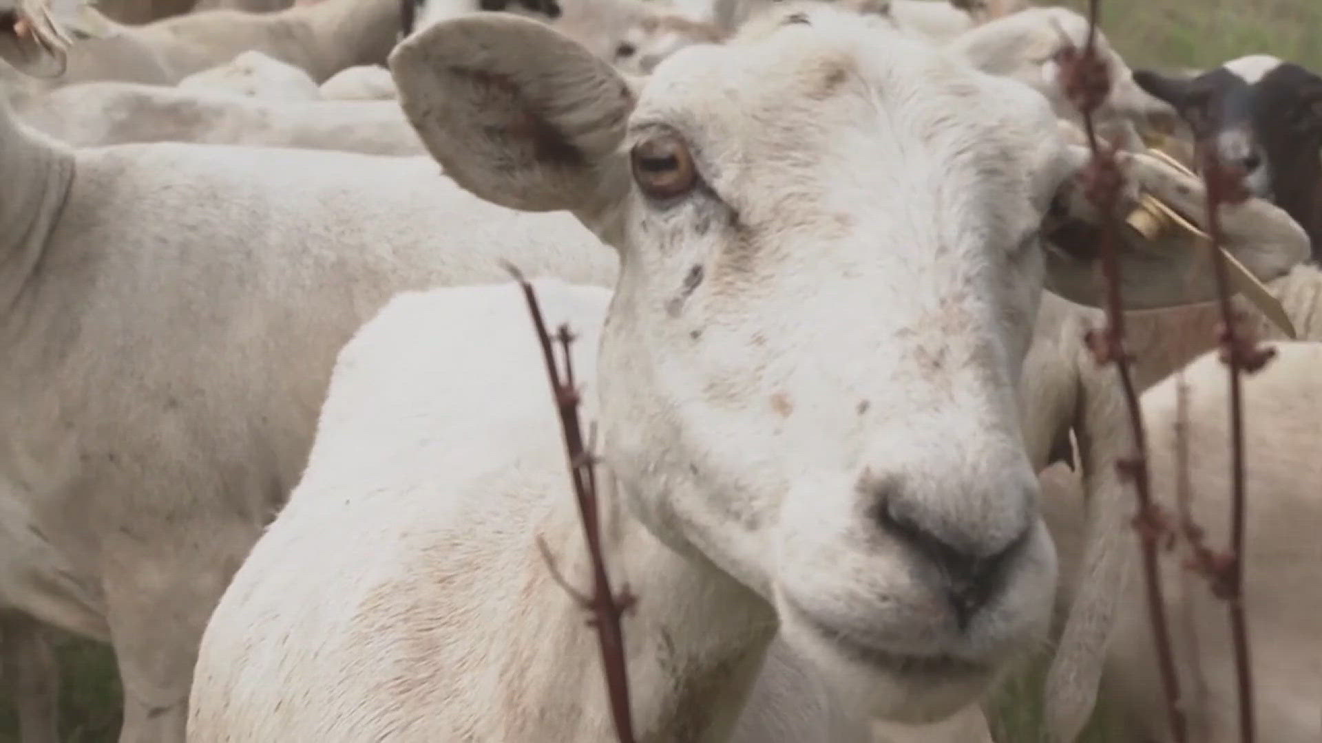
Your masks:
<svg viewBox="0 0 1322 743"><path fill-rule="evenodd" d="M1233 198L1231 189L1241 189L1241 181L1231 181L1231 173L1216 159L1211 147L1203 147L1203 181L1207 188L1207 234L1212 239L1212 267L1216 275L1216 295L1222 309L1222 358L1229 370L1231 397L1231 551L1224 572L1214 576L1214 590L1225 599L1231 615L1231 637L1235 645L1235 674L1239 687L1239 722L1241 743L1255 739L1253 669L1249 665L1248 620L1244 616L1244 402L1240 390L1240 372L1245 366L1265 364L1270 354L1252 349L1252 338L1240 338L1231 308L1231 290L1225 256L1222 255L1220 206ZM1256 357L1256 358L1255 358ZM1220 583L1220 586L1216 586Z"/></svg>

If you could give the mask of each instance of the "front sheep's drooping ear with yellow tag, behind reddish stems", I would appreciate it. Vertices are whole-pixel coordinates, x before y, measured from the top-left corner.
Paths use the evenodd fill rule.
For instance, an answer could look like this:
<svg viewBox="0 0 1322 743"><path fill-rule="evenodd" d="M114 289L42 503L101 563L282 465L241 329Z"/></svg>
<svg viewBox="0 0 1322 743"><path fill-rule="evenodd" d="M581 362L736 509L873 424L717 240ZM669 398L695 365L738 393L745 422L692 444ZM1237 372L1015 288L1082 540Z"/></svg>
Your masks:
<svg viewBox="0 0 1322 743"><path fill-rule="evenodd" d="M1043 223L1047 247L1046 288L1069 301L1103 307L1101 219L1088 201L1080 176L1091 161L1084 147L1066 145L1073 171L1056 192L1052 213ZM1116 212L1113 246L1121 272L1121 303L1125 309L1158 309L1207 301L1216 296L1216 283L1204 241L1170 225L1147 238L1128 226L1138 205L1138 193L1154 196L1177 213L1202 226L1206 213L1202 180L1146 153L1116 153L1125 177L1125 190ZM1223 208L1225 250L1235 258L1232 282L1240 291L1260 299L1261 287L1284 275L1309 255L1309 238L1285 212L1261 201Z"/></svg>

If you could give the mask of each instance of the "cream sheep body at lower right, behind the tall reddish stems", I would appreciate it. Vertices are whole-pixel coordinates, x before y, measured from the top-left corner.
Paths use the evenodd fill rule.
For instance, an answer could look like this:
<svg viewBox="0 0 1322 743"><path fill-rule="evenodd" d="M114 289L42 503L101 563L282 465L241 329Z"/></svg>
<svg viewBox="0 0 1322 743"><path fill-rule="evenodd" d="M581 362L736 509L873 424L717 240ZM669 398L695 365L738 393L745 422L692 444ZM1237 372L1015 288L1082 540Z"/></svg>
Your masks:
<svg viewBox="0 0 1322 743"><path fill-rule="evenodd" d="M1244 555L1244 606L1251 631L1253 680L1259 706L1259 740L1317 743L1322 739L1322 653L1318 617L1322 591L1322 344L1272 342L1277 357L1244 378L1245 490L1248 493ZM1195 522L1207 530L1211 546L1229 533L1229 440L1225 365L1218 352L1199 356L1142 395L1144 423L1150 436L1149 468L1153 493L1170 513L1177 512L1178 401L1186 385L1186 442L1192 463L1188 485ZM1077 500L1056 493L1047 504L1052 533L1079 530ZM1079 541L1056 541L1063 550ZM1136 550L1137 541L1128 539ZM1068 555L1067 555L1068 557ZM1188 693L1191 739L1199 743L1239 740L1233 656L1225 629L1224 604L1199 578L1178 575L1182 557L1165 559L1170 616L1182 617L1175 652L1182 687ZM1064 559L1064 558L1063 558ZM1137 559L1133 559L1137 562ZM1068 586L1068 584L1067 584ZM1182 588L1188 586L1191 590ZM1108 701L1128 722L1134 740L1169 742L1161 680L1155 669L1151 625L1142 578L1130 575L1122 588L1121 611L1112 631L1107 665ZM1192 631L1196 649L1187 645ZM1190 660L1196 652L1198 662ZM1194 669L1202 677L1192 676Z"/></svg>

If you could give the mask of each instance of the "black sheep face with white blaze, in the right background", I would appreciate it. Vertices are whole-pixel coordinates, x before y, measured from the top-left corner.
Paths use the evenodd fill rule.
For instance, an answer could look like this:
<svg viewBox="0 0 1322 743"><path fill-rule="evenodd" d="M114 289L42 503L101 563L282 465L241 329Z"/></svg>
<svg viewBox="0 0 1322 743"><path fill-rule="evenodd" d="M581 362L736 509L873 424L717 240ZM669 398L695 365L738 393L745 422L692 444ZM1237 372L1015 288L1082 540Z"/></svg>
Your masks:
<svg viewBox="0 0 1322 743"><path fill-rule="evenodd" d="M1134 82L1174 106L1195 136L1239 167L1255 196L1290 213L1322 256L1322 77L1266 54L1191 78L1150 70Z"/></svg>

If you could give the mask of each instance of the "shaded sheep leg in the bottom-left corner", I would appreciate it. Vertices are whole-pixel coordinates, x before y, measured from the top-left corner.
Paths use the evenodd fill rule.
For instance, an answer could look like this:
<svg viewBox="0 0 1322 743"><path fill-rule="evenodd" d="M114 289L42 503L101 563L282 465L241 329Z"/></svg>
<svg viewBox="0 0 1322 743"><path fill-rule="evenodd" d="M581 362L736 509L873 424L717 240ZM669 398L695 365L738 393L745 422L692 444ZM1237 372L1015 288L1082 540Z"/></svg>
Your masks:
<svg viewBox="0 0 1322 743"><path fill-rule="evenodd" d="M0 611L0 662L22 743L59 742L59 666L41 624Z"/></svg>

